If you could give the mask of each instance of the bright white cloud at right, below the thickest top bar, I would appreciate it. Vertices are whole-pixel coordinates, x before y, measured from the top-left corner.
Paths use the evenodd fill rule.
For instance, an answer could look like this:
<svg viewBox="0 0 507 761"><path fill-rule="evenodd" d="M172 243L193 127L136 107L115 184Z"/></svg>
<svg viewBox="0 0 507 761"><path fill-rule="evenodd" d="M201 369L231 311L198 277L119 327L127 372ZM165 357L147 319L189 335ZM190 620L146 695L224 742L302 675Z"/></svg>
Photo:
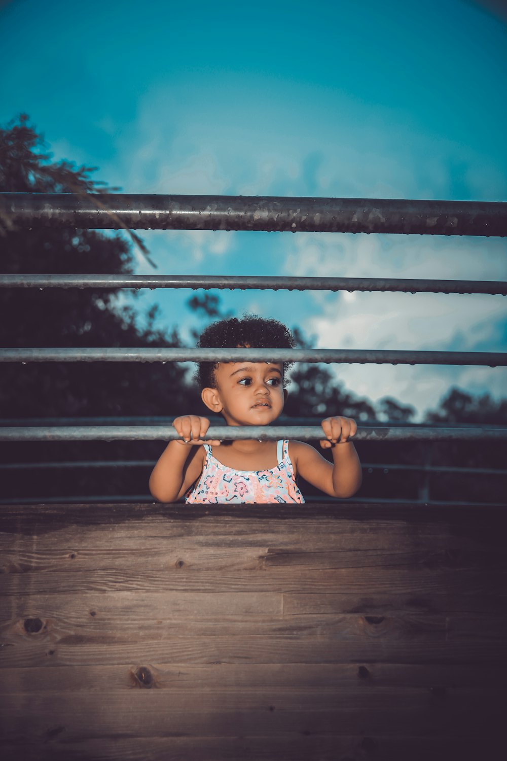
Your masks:
<svg viewBox="0 0 507 761"><path fill-rule="evenodd" d="M287 240L293 275L505 279L505 241L496 239L299 234ZM315 317L303 325L328 349L502 351L507 303L499 295L314 291ZM486 347L486 348L485 348ZM378 401L394 396L420 412L452 384L505 396L505 368L340 365L350 390Z"/></svg>

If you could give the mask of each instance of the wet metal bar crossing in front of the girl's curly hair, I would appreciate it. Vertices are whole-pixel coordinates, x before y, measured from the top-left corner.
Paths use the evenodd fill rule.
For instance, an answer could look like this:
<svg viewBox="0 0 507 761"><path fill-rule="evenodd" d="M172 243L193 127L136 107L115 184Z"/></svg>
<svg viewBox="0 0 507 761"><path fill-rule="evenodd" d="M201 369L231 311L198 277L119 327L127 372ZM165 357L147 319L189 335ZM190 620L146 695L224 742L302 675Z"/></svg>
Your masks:
<svg viewBox="0 0 507 761"><path fill-rule="evenodd" d="M0 362L338 362L374 365L507 365L507 352L381 349L0 349Z"/></svg>

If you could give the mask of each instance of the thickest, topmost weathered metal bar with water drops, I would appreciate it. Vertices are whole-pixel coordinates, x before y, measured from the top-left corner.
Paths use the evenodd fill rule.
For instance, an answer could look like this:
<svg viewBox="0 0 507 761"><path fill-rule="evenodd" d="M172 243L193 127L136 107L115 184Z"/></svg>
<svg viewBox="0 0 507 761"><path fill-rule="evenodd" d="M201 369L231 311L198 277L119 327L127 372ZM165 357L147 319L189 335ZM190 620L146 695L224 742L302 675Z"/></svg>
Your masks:
<svg viewBox="0 0 507 761"><path fill-rule="evenodd" d="M507 235L507 203L410 199L1 193L24 228Z"/></svg>

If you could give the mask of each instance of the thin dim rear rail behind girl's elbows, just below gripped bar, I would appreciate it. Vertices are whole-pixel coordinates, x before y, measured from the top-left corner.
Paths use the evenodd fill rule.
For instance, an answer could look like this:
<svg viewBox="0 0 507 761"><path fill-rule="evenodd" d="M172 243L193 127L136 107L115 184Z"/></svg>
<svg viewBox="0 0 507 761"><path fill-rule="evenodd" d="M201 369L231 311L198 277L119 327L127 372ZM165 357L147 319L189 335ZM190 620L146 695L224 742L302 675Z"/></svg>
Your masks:
<svg viewBox="0 0 507 761"><path fill-rule="evenodd" d="M73 468L153 468L156 460L60 460L46 463L0 463L0 470L60 470ZM361 463L366 471L410 470L417 473L471 473L477 476L507 476L507 470L499 468L469 468L445 465L400 465L398 463Z"/></svg>

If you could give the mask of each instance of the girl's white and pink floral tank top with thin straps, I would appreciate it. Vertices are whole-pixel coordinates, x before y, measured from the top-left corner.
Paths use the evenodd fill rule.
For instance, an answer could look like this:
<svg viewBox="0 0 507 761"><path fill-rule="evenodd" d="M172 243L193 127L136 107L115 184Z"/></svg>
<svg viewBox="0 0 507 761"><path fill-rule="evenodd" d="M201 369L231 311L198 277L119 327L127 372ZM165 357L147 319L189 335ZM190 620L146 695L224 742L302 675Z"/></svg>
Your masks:
<svg viewBox="0 0 507 761"><path fill-rule="evenodd" d="M296 485L288 441L277 442L278 464L270 470L234 470L213 457L209 444L203 447L206 457L201 478L185 494L185 502L247 505L253 502L303 504L305 501Z"/></svg>

